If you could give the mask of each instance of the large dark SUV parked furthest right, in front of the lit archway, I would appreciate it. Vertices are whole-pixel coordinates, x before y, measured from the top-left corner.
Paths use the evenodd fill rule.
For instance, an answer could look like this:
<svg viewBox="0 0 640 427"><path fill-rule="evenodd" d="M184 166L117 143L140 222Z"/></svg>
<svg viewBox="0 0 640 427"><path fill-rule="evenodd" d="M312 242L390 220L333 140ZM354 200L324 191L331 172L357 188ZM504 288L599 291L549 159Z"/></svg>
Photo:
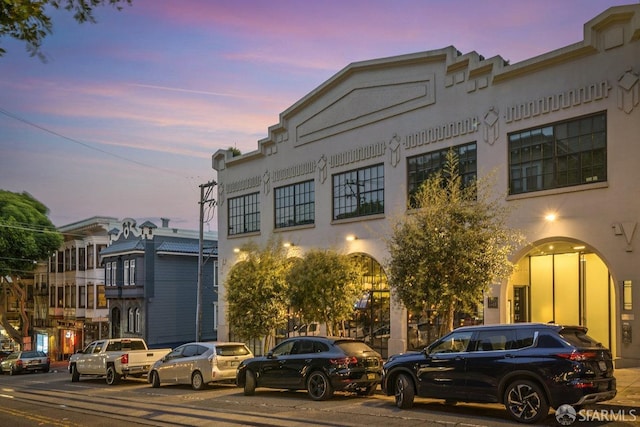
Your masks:
<svg viewBox="0 0 640 427"><path fill-rule="evenodd" d="M549 407L613 399L611 352L587 328L516 323L455 329L422 352L384 365L382 389L399 408L414 396L503 403L516 421L535 423Z"/></svg>

